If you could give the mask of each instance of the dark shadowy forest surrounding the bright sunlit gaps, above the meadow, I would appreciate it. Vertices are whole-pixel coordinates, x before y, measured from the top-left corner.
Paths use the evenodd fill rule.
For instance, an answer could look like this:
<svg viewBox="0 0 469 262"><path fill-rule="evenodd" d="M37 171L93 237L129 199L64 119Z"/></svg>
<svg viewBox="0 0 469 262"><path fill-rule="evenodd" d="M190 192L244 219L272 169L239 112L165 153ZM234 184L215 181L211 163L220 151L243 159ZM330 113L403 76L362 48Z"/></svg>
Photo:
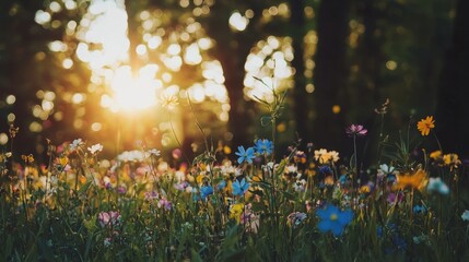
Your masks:
<svg viewBox="0 0 469 262"><path fill-rule="evenodd" d="M71 21L80 25L90 5L84 0L75 3L70 8L68 1L60 0L0 2L0 133L8 134L10 124L19 127L14 146L22 154L44 155L46 139L58 144L83 138L112 145L117 129L126 133L129 127L141 126L140 131L122 134L122 143L152 130L152 123L144 120L154 118L151 111L129 118L101 112L97 104L105 87L89 88L90 67L77 56L80 39L67 32ZM128 14L128 63L133 68L152 59L143 60L136 53L143 38L143 11L163 13L166 19L160 27L166 32L178 31L187 21L197 22L213 40L213 47L202 56L216 59L223 69L231 107L228 121L214 120L211 104L191 108L203 128L211 130L213 141L237 146L251 144L256 136L269 138L260 124L266 115L263 107L248 98L243 87L249 53L256 51L260 40L278 36L288 37L293 48L290 66L295 72L293 84L285 88L279 151L302 139L302 146L312 142L316 147L350 152L345 127L362 123L373 133L379 117L374 109L389 98L385 118L389 135L398 135L397 130L414 127L432 115L444 151L469 155L468 1L126 0L121 4ZM50 22L37 23L38 11L48 13ZM230 27L233 12L249 16L245 29ZM169 40L169 35L162 38ZM61 41L67 48L54 51L52 41ZM65 69L65 59L71 59L73 67ZM183 64L176 73L191 82L191 72L197 70ZM48 117L33 114L47 92L54 94L54 109ZM77 104L67 98L70 93L87 96ZM183 122L194 121L190 116L183 114ZM82 124L74 124L78 119ZM95 121L103 122L102 131L87 128ZM185 151L202 142L200 133L189 131L197 131L194 124L183 124L183 129ZM426 143L437 148L432 139ZM3 150L9 151L7 144Z"/></svg>

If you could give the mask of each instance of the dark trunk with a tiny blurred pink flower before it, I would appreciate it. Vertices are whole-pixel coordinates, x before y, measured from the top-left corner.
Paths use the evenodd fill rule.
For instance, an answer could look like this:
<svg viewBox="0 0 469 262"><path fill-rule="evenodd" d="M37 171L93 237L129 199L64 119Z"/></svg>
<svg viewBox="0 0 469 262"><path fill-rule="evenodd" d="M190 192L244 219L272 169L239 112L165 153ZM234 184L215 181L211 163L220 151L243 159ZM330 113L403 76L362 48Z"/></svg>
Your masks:
<svg viewBox="0 0 469 262"><path fill-rule="evenodd" d="M344 133L344 91L348 80L347 37L350 0L323 0L319 5L315 68L313 139L317 146L340 150ZM332 111L340 106L341 111ZM338 107L335 107L336 110Z"/></svg>

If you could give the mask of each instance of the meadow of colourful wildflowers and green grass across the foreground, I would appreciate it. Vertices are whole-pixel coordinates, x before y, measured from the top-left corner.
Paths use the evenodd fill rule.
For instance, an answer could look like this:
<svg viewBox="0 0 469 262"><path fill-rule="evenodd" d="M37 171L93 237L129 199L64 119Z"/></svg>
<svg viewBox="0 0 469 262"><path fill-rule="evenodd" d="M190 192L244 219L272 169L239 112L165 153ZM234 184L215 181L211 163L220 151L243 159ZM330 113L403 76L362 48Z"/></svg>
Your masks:
<svg viewBox="0 0 469 262"><path fill-rule="evenodd" d="M104 159L99 141L78 138L48 141L37 163L15 155L11 126L0 261L469 261L468 164L437 142L437 119L397 136L377 124L371 156L360 123L343 127L348 152L303 141L278 152L274 95L261 102L270 138L206 141L189 160L144 145Z"/></svg>

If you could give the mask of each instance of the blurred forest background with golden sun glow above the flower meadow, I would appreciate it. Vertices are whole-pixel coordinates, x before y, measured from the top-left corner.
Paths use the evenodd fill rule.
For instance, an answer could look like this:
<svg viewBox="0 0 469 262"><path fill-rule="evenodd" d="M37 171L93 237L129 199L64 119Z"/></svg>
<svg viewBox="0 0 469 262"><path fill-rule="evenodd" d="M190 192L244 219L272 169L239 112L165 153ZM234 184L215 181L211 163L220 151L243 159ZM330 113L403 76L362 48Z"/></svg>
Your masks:
<svg viewBox="0 0 469 262"><path fill-rule="evenodd" d="M173 129L191 155L197 121L215 145L248 145L270 138L256 76L288 91L279 151L350 151L344 128L376 131L389 98L390 135L434 115L444 150L467 155L462 13L465 0L2 0L0 145L13 124L22 154L82 138L114 156L175 147Z"/></svg>

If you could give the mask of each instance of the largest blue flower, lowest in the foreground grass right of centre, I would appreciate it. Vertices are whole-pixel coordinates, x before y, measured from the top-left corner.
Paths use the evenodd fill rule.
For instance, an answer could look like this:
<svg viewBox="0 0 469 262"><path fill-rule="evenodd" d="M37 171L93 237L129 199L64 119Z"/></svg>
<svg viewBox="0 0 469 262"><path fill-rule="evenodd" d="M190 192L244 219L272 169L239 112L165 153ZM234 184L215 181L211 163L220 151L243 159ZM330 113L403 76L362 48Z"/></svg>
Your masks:
<svg viewBox="0 0 469 262"><path fill-rule="evenodd" d="M317 210L320 222L317 225L323 233L331 231L335 237L342 235L343 228L352 221L351 210L340 211L337 206L327 204L326 209Z"/></svg>

